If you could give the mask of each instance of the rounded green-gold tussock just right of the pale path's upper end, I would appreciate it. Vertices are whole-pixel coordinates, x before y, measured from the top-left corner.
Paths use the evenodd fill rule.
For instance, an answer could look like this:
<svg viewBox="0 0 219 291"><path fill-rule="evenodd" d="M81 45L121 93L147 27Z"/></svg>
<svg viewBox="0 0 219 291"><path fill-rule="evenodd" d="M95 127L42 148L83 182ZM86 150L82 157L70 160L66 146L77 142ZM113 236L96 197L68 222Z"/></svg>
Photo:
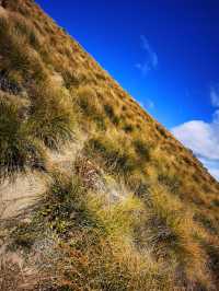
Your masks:
<svg viewBox="0 0 219 291"><path fill-rule="evenodd" d="M84 148L91 156L99 156L105 167L117 174L128 175L138 167L134 154L107 139L92 138Z"/></svg>

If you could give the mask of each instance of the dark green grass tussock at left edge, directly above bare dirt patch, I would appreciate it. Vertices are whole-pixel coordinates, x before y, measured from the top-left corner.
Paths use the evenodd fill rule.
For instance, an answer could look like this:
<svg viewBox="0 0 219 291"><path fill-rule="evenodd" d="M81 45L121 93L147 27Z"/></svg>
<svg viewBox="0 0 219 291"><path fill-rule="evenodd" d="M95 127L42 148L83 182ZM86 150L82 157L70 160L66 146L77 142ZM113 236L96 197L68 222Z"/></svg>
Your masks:
<svg viewBox="0 0 219 291"><path fill-rule="evenodd" d="M44 152L22 121L19 107L0 101L0 178L44 166Z"/></svg>

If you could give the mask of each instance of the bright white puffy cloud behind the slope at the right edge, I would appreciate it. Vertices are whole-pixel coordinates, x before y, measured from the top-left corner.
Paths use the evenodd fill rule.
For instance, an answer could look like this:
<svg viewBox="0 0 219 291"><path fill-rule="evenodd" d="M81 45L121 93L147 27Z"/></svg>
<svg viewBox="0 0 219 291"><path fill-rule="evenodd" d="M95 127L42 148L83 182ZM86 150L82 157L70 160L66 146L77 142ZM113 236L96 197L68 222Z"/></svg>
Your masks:
<svg viewBox="0 0 219 291"><path fill-rule="evenodd" d="M212 106L219 107L219 91L210 89ZM208 168L219 181L219 109L216 108L211 123L192 120L172 129L173 135Z"/></svg>

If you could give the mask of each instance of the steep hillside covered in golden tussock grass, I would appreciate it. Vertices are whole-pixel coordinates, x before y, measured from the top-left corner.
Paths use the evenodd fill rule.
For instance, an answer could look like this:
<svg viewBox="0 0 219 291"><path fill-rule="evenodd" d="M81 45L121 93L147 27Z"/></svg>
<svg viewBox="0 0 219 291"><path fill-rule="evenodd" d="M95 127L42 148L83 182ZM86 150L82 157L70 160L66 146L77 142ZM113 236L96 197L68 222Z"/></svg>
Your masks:
<svg viewBox="0 0 219 291"><path fill-rule="evenodd" d="M0 3L0 290L218 290L219 184L33 1Z"/></svg>

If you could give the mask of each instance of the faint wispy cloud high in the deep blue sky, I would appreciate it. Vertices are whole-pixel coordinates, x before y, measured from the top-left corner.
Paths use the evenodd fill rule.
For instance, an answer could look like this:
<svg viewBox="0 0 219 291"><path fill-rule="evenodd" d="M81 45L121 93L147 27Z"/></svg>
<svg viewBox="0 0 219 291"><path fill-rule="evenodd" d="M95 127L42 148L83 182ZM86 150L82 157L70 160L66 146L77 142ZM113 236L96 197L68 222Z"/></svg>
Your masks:
<svg viewBox="0 0 219 291"><path fill-rule="evenodd" d="M140 39L142 49L146 51L146 61L137 63L136 68L146 75L149 71L154 70L158 67L158 55L153 51L145 35L141 35Z"/></svg>

